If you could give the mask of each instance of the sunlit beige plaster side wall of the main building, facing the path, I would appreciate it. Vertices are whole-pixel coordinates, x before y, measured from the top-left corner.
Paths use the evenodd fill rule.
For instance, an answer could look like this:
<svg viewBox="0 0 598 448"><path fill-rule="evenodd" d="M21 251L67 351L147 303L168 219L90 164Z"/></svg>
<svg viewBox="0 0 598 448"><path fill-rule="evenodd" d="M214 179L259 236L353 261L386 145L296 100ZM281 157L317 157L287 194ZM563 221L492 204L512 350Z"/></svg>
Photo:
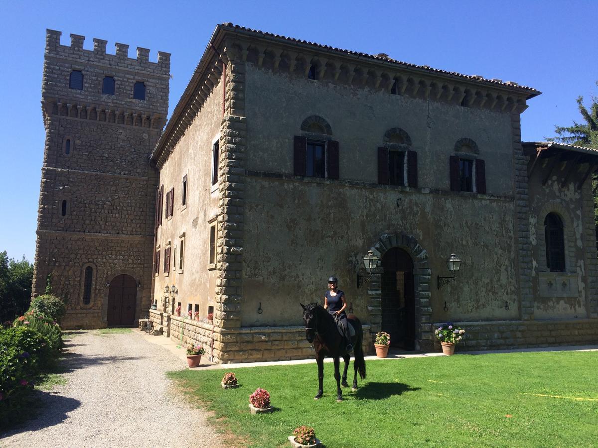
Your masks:
<svg viewBox="0 0 598 448"><path fill-rule="evenodd" d="M208 269L209 221L218 214L218 187L212 186L212 145L219 139L222 121L222 83L214 88L193 124L160 168L160 185L164 186L162 224L158 228L156 247L160 247L160 271L155 275L154 299L164 298L173 311L181 302L182 314L189 303L199 305L200 318L214 306L216 271ZM182 205L182 180L187 176L187 205ZM175 189L173 216L166 218L166 193ZM179 270L181 235L185 235L184 268ZM164 275L164 248L170 242L170 273ZM176 260L175 260L176 248ZM175 266L176 265L176 266ZM175 285L178 293L164 293L165 286ZM174 306L173 306L174 304ZM158 308L160 309L160 308Z"/></svg>

